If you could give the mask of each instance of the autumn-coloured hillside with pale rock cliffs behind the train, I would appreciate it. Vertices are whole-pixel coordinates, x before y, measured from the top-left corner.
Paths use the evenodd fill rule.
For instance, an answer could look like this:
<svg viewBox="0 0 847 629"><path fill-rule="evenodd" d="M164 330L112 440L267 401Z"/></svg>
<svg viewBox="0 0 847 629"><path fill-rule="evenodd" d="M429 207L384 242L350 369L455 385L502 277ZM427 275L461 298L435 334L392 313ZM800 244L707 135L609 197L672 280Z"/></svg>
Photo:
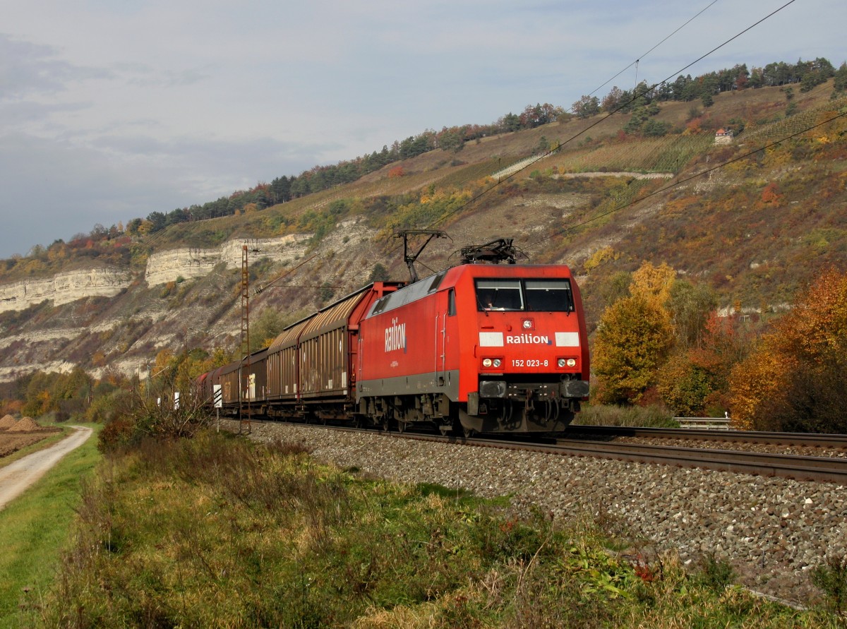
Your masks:
<svg viewBox="0 0 847 629"><path fill-rule="evenodd" d="M570 117L267 209L147 237L101 234L113 253L87 262L49 248L0 274L0 381L74 365L145 376L163 349L235 348L245 242L253 287L288 274L251 298L254 320L265 309L295 320L367 283L377 263L407 279L392 234L429 226L452 240L431 244L422 276L463 246L514 237L531 262L577 271L592 323L617 274L644 260L715 288L727 311L779 309L847 253L847 103L832 86L791 98L781 87L723 92L708 108L662 103L650 118L670 132L658 136L625 132L630 114ZM717 130L742 127L716 144ZM562 147L491 177L551 142Z"/></svg>

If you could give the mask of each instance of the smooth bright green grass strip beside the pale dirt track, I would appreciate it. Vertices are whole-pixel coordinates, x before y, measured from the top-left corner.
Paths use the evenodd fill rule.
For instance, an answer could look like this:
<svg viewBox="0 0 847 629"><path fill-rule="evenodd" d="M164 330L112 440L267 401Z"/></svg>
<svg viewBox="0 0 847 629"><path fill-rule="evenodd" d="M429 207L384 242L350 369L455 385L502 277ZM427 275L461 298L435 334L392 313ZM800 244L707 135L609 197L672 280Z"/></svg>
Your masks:
<svg viewBox="0 0 847 629"><path fill-rule="evenodd" d="M27 606L40 601L51 587L60 551L73 529L80 478L100 459L97 438L91 437L0 510L0 627L25 624Z"/></svg>

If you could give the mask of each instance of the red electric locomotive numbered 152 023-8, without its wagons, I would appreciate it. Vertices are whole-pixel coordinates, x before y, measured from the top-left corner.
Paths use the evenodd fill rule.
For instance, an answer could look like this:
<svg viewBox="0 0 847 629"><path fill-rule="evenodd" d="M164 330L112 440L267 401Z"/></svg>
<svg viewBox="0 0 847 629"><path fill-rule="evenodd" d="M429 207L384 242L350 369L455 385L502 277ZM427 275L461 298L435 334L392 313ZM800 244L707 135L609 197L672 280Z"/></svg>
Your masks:
<svg viewBox="0 0 847 629"><path fill-rule="evenodd" d="M461 264L386 295L359 326L358 412L400 430L561 431L589 392L567 266Z"/></svg>

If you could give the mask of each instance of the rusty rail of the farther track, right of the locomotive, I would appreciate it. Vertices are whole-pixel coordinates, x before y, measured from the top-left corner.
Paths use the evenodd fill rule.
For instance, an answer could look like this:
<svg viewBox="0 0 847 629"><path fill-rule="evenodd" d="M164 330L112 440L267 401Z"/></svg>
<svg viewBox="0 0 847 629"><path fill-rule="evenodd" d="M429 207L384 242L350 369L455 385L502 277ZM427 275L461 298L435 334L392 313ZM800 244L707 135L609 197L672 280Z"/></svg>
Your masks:
<svg viewBox="0 0 847 629"><path fill-rule="evenodd" d="M567 427L567 434L595 434L607 437L654 437L657 439L695 439L736 443L767 443L819 448L847 448L847 435L809 432L717 431L707 428L639 428L627 426Z"/></svg>

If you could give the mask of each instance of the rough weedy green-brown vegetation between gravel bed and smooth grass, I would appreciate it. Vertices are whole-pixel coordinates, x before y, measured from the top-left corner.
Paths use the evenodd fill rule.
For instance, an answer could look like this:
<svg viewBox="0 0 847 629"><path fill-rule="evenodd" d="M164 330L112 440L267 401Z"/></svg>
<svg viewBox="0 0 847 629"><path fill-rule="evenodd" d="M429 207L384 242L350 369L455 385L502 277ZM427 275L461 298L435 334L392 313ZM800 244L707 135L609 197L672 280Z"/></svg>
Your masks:
<svg viewBox="0 0 847 629"><path fill-rule="evenodd" d="M85 482L75 543L21 626L837 627L705 562L518 518L505 500L319 465L214 431L142 439Z"/></svg>

